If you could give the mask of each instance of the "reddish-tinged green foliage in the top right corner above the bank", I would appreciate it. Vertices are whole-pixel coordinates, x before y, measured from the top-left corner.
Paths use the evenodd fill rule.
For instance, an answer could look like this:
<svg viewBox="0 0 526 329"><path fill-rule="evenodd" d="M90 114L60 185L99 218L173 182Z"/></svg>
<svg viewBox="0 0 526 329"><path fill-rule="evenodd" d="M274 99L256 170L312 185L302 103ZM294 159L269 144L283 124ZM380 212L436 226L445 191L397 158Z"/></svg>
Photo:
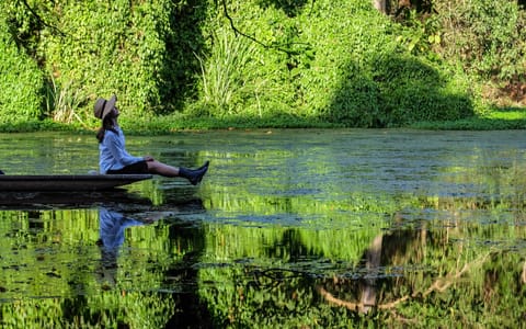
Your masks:
<svg viewBox="0 0 526 329"><path fill-rule="evenodd" d="M482 79L526 79L526 12L517 1L435 1L446 58Z"/></svg>

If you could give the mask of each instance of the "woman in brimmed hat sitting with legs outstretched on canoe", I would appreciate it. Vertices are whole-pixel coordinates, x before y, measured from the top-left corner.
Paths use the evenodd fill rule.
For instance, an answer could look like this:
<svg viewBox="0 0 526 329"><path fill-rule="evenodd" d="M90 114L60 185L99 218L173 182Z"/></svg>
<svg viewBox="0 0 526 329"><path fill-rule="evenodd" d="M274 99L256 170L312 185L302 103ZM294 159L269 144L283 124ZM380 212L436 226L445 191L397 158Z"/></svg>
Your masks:
<svg viewBox="0 0 526 329"><path fill-rule="evenodd" d="M102 127L96 133L99 139L101 173L155 173L164 177L182 177L193 185L201 182L208 170L208 161L198 169L172 167L155 160L150 156L133 157L125 148L123 131L118 126L118 110L115 106L117 98L99 99L95 102L94 115L102 120Z"/></svg>

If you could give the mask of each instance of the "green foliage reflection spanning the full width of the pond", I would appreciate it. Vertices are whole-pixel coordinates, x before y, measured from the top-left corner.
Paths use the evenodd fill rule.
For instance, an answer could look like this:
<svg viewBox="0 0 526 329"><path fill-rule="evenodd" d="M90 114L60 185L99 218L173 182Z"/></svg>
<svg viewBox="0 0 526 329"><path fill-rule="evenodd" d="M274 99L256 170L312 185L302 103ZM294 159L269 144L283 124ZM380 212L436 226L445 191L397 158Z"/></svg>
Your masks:
<svg viewBox="0 0 526 329"><path fill-rule="evenodd" d="M345 212L330 216L330 223L317 220L294 228L275 222L201 226L176 219L141 227L127 237L136 249L128 248L124 259L118 258L123 275L111 288L94 280L93 263L79 263L79 259L100 259L95 246L77 246L96 240L96 213L35 211L21 218L18 213L0 213L4 251L0 295L11 293L18 280L26 282L23 287L35 295L48 294L45 288L52 286L66 296L4 304L2 325L162 327L170 321L169 326L188 327L195 325L190 324L192 314L202 327L213 322L217 327L351 328L378 321L514 327L526 316L524 179L510 175L511 183L502 183L502 178L477 170L469 177L485 179L480 185L490 189L484 195L491 197L424 195L380 203L380 197L365 195L365 201L354 197L358 201L352 208L347 200L344 208L345 202L305 197L284 197L283 203L281 197L232 197L251 203L225 201L226 208L230 205L250 214L266 209L271 216L297 213L306 218ZM251 196L233 188L227 192ZM385 214L402 203L411 218L401 214L389 223ZM353 223L341 225L345 220ZM388 224L391 227L386 229ZM67 241L76 241L75 253L57 249ZM161 293L162 288L167 292ZM79 291L83 297L70 298ZM30 310L34 316L26 314Z"/></svg>

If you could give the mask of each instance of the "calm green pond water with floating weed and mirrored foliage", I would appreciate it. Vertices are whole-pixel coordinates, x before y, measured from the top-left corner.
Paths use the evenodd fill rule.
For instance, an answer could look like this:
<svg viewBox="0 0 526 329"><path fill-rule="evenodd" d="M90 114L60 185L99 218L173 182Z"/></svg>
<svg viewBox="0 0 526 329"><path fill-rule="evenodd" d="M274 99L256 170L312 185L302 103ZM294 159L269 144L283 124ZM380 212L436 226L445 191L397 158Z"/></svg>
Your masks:
<svg viewBox="0 0 526 329"><path fill-rule="evenodd" d="M519 327L525 132L127 136L210 160L93 193L0 196L2 328ZM87 173L94 136L0 134L9 174Z"/></svg>

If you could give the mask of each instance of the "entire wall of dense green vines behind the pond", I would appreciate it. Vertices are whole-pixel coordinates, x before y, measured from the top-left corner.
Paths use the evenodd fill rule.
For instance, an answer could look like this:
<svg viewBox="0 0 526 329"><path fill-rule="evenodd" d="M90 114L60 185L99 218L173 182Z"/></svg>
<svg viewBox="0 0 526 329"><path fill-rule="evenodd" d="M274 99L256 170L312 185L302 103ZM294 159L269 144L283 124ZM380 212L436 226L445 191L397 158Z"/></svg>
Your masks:
<svg viewBox="0 0 526 329"><path fill-rule="evenodd" d="M515 1L426 3L400 19L358 0L3 2L2 121L92 126L116 93L128 120L389 127L482 113L481 79L522 86Z"/></svg>

